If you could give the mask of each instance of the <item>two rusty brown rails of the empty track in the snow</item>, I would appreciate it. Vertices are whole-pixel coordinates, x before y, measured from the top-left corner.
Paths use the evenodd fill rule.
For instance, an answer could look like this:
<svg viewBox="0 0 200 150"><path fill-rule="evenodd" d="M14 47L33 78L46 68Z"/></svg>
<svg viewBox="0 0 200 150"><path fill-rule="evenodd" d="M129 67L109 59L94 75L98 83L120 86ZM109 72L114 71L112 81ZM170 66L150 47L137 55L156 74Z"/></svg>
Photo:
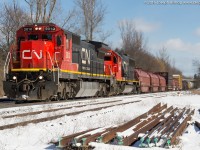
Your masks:
<svg viewBox="0 0 200 150"><path fill-rule="evenodd" d="M131 104L131 103L137 103L140 102L139 101L129 101L129 102L122 102L121 100L115 100L115 101L109 101L109 102L100 102L100 103L93 103L93 104L89 104L89 105L94 105L93 108L90 109L84 109L84 110L78 110L78 111L71 111L68 113L62 113L59 115L53 115L53 116L48 116L48 117L44 117L44 118L38 118L38 119L32 119L32 120L27 120L27 121L23 121L23 122L17 122L17 123L12 123L12 124L6 124L3 126L0 126L0 130L4 130L4 129L10 129L10 128L15 128L18 126L26 126L29 123L41 123L41 122L45 122L45 121L50 121L50 120L54 120L57 118L61 118L63 116L73 116L73 115L78 115L84 112L89 112L89 111L98 111L101 109L105 109L105 108L109 108L109 107L114 107L114 106L120 106L120 105L126 105L126 104ZM111 104L109 104L111 103ZM102 106L102 104L104 106ZM108 104L108 105L107 105ZM99 106L98 106L99 105ZM106 106L105 106L106 105ZM78 105L78 106L73 106L73 107L65 107L65 108L59 108L59 109L50 109L50 110L44 110L44 111L37 111L37 112L30 112L30 113L23 113L23 114L17 114L17 115L10 115L10 116L4 116L3 119L9 119L12 117L17 117L17 118L23 118L23 117L27 117L27 116L33 116L33 115L37 115L40 113L49 113L49 112L55 112L55 111L59 111L59 110L64 110L64 109L71 109L74 107L84 107L84 106L88 106L88 105Z"/></svg>

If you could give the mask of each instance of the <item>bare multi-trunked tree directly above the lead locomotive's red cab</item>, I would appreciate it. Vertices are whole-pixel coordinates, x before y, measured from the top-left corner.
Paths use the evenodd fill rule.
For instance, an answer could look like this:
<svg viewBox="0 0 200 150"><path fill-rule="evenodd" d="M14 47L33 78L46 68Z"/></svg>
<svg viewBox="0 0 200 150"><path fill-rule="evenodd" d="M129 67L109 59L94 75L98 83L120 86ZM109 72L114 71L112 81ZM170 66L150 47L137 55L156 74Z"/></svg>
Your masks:
<svg viewBox="0 0 200 150"><path fill-rule="evenodd" d="M32 23L56 22L66 30L77 30L77 12L75 9L63 13L58 0L24 0L30 10Z"/></svg>

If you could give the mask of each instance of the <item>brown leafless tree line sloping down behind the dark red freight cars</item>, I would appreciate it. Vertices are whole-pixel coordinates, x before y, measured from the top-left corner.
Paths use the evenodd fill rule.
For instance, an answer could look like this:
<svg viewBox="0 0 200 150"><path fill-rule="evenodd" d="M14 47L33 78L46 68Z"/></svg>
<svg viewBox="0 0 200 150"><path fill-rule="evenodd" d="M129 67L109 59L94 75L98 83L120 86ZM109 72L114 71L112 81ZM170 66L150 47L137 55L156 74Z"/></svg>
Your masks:
<svg viewBox="0 0 200 150"><path fill-rule="evenodd" d="M121 33L122 47L118 49L118 52L133 57L136 62L136 67L150 72L168 72L169 75L182 74L175 67L175 61L171 59L165 47L160 48L157 56L149 52L143 33L137 30L133 21L120 21L119 30Z"/></svg>

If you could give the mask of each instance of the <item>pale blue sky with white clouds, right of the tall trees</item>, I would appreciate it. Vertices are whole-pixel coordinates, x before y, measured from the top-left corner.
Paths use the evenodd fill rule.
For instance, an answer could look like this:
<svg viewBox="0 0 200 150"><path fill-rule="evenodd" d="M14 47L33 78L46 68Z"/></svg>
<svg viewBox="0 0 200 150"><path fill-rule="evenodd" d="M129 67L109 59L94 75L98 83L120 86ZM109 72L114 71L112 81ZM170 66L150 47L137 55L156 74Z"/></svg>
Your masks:
<svg viewBox="0 0 200 150"><path fill-rule="evenodd" d="M4 0L9 2L10 0ZM194 75L192 59L200 59L200 1L172 0L172 2L198 2L187 5L147 5L148 0L102 0L107 7L103 29L113 30L108 41L120 47L118 22L129 19L136 23L153 54L165 46L171 58L184 75ZM161 0L166 1L166 0ZM161 2L154 1L154 2ZM23 0L18 0L23 5ZM62 9L68 11L73 0L60 0Z"/></svg>

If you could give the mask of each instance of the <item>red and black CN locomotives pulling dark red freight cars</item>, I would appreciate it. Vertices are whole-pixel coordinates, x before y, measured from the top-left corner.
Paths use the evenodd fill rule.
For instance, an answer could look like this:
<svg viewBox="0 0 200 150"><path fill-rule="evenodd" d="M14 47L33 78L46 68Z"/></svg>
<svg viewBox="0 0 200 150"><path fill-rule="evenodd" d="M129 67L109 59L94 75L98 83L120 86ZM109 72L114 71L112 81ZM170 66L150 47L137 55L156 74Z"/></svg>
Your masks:
<svg viewBox="0 0 200 150"><path fill-rule="evenodd" d="M81 40L53 23L21 27L15 45L4 65L8 98L61 100L168 89L167 73L135 68L127 55L102 42ZM180 84L174 86L181 89Z"/></svg>

